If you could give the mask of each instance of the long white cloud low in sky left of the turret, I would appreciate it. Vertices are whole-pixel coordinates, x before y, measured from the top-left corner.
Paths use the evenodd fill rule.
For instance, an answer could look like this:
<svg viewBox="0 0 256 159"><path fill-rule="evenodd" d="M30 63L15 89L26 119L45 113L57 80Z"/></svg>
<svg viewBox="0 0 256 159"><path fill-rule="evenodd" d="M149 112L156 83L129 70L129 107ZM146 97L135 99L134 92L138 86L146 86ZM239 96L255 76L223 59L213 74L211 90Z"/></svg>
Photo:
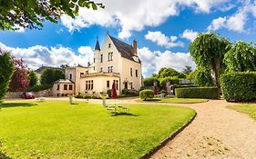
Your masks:
<svg viewBox="0 0 256 159"><path fill-rule="evenodd" d="M10 47L0 43L0 48L11 51L16 58L22 58L24 62L33 69L41 65L59 66L62 64L68 65L85 65L88 61L92 61L92 49L89 46L79 47L79 53L75 54L71 48L63 46L46 47L35 45L28 48Z"/></svg>

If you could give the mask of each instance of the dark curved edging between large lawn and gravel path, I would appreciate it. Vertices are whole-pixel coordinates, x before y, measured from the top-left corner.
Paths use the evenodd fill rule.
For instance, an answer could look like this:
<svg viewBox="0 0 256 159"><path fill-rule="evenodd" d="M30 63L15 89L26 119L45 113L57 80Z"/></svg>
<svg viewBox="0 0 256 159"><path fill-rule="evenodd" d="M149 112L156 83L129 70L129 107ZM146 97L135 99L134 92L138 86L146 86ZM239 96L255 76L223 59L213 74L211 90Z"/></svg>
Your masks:
<svg viewBox="0 0 256 159"><path fill-rule="evenodd" d="M159 145L155 146L154 148L152 148L148 153L146 154L142 154L139 159L148 159L150 158L153 154L156 154L162 147L164 147L166 144L169 143L169 141L171 141L172 139L174 139L176 137L177 134L179 134L180 132L182 132L186 127L189 126L189 124L191 124L193 122L193 120L196 118L197 116L197 112L195 113L195 115L189 120L189 122L187 124L183 124L179 130L177 130L176 132L174 132L173 134L171 134L169 137L165 138L164 140L162 140Z"/></svg>

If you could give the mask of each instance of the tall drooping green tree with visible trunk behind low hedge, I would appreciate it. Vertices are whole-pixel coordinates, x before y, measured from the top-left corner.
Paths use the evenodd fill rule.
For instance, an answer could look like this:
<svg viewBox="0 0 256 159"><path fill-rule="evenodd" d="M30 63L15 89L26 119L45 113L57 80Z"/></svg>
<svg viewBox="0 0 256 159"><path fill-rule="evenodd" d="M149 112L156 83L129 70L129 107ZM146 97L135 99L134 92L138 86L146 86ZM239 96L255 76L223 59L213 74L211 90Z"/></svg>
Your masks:
<svg viewBox="0 0 256 159"><path fill-rule="evenodd" d="M203 33L189 45L189 52L195 63L210 71L211 83L220 91L220 73L223 67L222 59L230 49L228 39L214 33ZM210 82L208 82L210 83Z"/></svg>

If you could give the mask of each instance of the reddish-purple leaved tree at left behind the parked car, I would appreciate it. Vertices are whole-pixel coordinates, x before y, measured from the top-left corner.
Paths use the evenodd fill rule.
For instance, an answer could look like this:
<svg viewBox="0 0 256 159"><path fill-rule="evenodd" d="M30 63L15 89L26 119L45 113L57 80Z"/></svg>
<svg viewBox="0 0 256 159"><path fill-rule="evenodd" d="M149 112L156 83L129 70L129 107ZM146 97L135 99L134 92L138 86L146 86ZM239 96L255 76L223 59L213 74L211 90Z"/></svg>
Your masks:
<svg viewBox="0 0 256 159"><path fill-rule="evenodd" d="M24 91L29 86L27 65L24 64L22 59L15 59L13 56L13 62L15 64L15 72L12 76L9 84L9 91L18 92Z"/></svg>

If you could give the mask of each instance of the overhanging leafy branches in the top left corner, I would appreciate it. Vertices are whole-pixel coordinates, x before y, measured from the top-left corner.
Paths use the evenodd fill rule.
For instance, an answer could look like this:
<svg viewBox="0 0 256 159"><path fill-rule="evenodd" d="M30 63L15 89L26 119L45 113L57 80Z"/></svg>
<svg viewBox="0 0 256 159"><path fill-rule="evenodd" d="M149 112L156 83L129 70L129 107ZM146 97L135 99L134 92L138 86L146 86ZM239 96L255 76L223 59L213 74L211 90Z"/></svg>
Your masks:
<svg viewBox="0 0 256 159"><path fill-rule="evenodd" d="M0 1L0 30L16 30L18 27L40 28L48 20L57 23L61 15L72 18L80 7L104 8L91 0L5 0Z"/></svg>

